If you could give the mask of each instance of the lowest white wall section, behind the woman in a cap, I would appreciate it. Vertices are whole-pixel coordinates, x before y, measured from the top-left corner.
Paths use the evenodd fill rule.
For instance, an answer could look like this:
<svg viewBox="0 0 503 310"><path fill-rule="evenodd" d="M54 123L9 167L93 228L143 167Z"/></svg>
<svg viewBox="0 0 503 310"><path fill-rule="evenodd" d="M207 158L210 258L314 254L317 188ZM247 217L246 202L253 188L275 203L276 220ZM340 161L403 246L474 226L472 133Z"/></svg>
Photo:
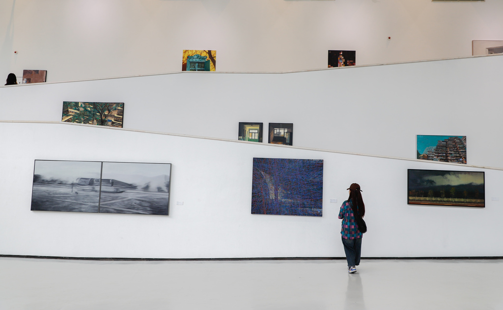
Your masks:
<svg viewBox="0 0 503 310"><path fill-rule="evenodd" d="M498 169L63 123L0 122L0 141L4 255L344 257L337 216L352 182L364 257L503 255ZM323 216L251 215L253 157L323 159ZM171 163L170 215L30 211L35 159ZM408 168L484 171L486 207L407 205Z"/></svg>

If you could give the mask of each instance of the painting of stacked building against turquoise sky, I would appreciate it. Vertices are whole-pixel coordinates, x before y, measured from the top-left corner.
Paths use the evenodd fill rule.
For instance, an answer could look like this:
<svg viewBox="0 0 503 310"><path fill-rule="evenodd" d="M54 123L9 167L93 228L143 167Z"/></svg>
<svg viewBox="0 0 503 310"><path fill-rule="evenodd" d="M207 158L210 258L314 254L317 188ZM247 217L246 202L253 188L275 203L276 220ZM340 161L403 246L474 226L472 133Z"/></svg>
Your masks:
<svg viewBox="0 0 503 310"><path fill-rule="evenodd" d="M466 136L417 135L417 159L466 164Z"/></svg>

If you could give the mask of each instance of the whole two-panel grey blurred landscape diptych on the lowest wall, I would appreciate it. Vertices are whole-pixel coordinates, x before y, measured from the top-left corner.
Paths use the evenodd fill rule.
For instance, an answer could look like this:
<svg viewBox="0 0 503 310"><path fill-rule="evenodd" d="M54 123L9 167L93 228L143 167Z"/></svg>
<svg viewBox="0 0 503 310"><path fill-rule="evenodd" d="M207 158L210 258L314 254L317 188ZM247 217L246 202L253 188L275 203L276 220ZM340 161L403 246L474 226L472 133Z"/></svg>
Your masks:
<svg viewBox="0 0 503 310"><path fill-rule="evenodd" d="M32 211L168 215L171 164L35 160Z"/></svg>

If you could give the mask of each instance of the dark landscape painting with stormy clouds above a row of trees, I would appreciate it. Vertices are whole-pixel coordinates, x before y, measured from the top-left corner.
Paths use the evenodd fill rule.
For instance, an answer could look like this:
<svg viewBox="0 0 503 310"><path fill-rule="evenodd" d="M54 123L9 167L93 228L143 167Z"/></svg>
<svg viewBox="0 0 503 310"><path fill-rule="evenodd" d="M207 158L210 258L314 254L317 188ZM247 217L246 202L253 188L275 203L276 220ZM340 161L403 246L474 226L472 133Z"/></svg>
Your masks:
<svg viewBox="0 0 503 310"><path fill-rule="evenodd" d="M407 170L409 204L485 206L483 171Z"/></svg>

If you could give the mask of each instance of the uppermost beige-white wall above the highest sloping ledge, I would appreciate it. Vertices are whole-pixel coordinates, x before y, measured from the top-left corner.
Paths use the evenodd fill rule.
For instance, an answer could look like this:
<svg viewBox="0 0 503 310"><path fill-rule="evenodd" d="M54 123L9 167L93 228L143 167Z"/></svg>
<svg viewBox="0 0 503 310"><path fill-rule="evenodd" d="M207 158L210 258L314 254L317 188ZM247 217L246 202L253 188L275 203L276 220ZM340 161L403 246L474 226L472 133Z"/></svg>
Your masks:
<svg viewBox="0 0 503 310"><path fill-rule="evenodd" d="M176 72L184 49L239 72L326 68L328 50L358 65L465 57L472 40L503 40L501 20L499 0L3 0L0 77Z"/></svg>

